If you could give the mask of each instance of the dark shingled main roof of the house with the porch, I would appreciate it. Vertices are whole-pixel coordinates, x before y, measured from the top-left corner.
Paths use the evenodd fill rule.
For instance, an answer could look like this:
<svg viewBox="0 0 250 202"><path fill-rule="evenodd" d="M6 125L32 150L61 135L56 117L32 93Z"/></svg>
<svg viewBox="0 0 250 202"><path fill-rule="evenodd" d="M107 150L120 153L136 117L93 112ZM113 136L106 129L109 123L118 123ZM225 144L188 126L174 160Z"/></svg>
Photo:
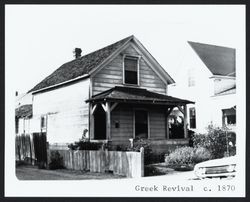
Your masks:
<svg viewBox="0 0 250 202"><path fill-rule="evenodd" d="M102 49L63 64L52 74L29 90L29 92L40 91L41 89L60 85L70 80L90 76L95 69L107 61L108 58L110 58L114 53L116 53L116 51L120 50L131 40L138 43L138 40L136 40L132 35ZM160 65L158 64L158 66ZM167 72L162 67L160 69L164 72L165 75L163 75L167 77L169 83L173 83L174 80L167 74Z"/></svg>

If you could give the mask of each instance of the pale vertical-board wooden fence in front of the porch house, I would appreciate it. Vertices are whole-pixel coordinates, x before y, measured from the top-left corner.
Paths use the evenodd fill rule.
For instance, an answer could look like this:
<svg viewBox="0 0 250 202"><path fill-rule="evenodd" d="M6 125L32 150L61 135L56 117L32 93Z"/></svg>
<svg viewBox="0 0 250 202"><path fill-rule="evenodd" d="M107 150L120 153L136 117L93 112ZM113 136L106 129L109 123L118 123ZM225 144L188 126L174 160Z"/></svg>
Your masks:
<svg viewBox="0 0 250 202"><path fill-rule="evenodd" d="M53 150L50 150L52 152ZM126 177L144 176L144 152L94 151L94 150L56 150L63 157L67 169L85 170L114 174Z"/></svg>

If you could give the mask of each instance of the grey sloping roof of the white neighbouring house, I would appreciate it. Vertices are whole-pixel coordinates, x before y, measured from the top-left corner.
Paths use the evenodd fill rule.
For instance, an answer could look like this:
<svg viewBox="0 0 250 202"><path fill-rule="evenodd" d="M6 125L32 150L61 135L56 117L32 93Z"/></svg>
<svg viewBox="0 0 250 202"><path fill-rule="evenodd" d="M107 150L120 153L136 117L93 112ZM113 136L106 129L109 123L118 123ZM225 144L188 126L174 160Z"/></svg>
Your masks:
<svg viewBox="0 0 250 202"><path fill-rule="evenodd" d="M213 75L235 77L235 49L188 41Z"/></svg>

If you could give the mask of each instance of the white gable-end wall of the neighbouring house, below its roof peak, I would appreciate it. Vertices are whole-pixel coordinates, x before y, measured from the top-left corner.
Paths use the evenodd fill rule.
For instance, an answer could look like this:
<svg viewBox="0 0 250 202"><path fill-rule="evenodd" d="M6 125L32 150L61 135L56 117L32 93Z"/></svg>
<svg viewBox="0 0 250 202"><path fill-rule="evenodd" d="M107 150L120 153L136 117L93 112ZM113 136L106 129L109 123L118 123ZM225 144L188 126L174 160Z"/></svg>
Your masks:
<svg viewBox="0 0 250 202"><path fill-rule="evenodd" d="M169 85L169 95L179 98L194 101L195 104L187 106L188 109L188 124L189 123L189 108L196 109L196 130L197 132L205 132L207 125L211 121L211 99L210 96L214 93L214 82L209 77L212 73L200 60L194 50L187 43L183 50L182 62L179 66L178 74L175 75L175 85ZM188 86L188 71L192 68L195 77L195 85Z"/></svg>

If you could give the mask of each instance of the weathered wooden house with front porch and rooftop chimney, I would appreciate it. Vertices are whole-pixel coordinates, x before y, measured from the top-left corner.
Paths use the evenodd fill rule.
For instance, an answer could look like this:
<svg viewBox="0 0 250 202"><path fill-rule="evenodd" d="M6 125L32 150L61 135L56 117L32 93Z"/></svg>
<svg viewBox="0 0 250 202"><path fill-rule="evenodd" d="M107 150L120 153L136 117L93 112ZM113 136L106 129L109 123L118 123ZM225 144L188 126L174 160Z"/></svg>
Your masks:
<svg viewBox="0 0 250 202"><path fill-rule="evenodd" d="M169 139L167 119L177 106L186 114L192 102L167 95L174 80L134 36L80 54L75 49L76 59L29 91L31 133L46 132L50 144L73 143L84 131L91 141L114 145L146 138L157 151L188 144L186 127L182 139Z"/></svg>

